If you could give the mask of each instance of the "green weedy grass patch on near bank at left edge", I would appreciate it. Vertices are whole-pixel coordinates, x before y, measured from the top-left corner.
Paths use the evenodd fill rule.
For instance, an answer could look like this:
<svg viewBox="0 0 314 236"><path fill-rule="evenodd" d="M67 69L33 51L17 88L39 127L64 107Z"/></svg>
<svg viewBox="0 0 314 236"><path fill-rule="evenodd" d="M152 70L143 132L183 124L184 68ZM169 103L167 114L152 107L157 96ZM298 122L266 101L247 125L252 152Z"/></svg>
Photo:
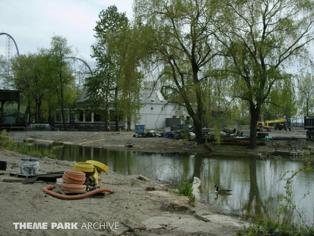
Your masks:
<svg viewBox="0 0 314 236"><path fill-rule="evenodd" d="M35 147L27 145L27 143L15 143L13 140L8 139L6 130L3 130L0 133L0 148L34 157L46 156L56 158L56 155L52 154L52 151L54 150L53 148L52 150L42 151L41 149L36 149Z"/></svg>

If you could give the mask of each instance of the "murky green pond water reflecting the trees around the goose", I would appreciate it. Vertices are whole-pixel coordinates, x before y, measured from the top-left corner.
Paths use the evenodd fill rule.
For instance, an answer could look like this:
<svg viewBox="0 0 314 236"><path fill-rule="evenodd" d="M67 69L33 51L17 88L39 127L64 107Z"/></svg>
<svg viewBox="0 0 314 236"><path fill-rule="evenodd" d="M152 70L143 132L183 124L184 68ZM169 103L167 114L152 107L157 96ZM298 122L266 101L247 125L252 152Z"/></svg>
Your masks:
<svg viewBox="0 0 314 236"><path fill-rule="evenodd" d="M51 144L33 144L41 149L51 149ZM124 174L142 174L165 181L192 179L202 180L202 200L257 219L275 219L280 199L286 196L284 179L286 171L302 167L302 160L267 159L249 156L192 155L187 153L141 153L132 149L113 151L104 148L64 145L57 147L54 154L60 160L97 160L109 166L109 170ZM287 177L291 176L291 172ZM214 186L232 190L232 195L215 194ZM313 187L311 177L299 174L293 181L293 200L300 214L313 222ZM304 197L304 194L310 193Z"/></svg>

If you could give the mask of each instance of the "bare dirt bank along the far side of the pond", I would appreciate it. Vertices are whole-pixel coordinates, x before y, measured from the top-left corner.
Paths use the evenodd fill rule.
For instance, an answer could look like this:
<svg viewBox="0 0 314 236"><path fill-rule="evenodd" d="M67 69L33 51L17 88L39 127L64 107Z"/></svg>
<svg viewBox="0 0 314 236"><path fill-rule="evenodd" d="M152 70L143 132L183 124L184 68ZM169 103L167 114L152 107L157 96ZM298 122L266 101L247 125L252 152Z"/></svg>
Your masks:
<svg viewBox="0 0 314 236"><path fill-rule="evenodd" d="M263 132L265 133L265 132ZM259 146L257 149L248 149L246 146L229 146L229 145L214 145L216 150L232 150L232 151L250 151L254 153L272 153L276 150L290 151L292 147L297 150L306 149L311 146L314 148L314 142L306 141L300 138L306 138L306 130L293 129L271 130L267 132L271 137L295 137L298 140L268 140L265 146ZM25 139L33 138L35 141L52 142L54 140L63 141L65 143L80 144L90 146L100 146L106 149L124 150L126 144L132 144L134 151L145 152L208 152L204 145L197 145L194 141L184 141L171 138L134 138L134 132L58 132L58 131L14 131L8 132L9 138ZM295 148L294 148L295 149Z"/></svg>

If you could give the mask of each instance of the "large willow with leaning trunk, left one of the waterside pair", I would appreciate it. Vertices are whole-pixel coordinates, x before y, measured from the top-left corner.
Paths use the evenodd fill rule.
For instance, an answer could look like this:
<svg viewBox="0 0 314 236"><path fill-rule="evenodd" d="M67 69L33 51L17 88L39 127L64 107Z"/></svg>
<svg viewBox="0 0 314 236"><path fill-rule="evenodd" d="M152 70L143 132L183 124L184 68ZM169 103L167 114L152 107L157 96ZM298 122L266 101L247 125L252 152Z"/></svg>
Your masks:
<svg viewBox="0 0 314 236"><path fill-rule="evenodd" d="M184 107L194 123L196 141L202 138L205 65L215 57L208 32L214 5L203 0L134 0L135 23L143 33L149 58L166 100ZM218 9L217 9L218 10ZM145 42L146 41L146 42Z"/></svg>

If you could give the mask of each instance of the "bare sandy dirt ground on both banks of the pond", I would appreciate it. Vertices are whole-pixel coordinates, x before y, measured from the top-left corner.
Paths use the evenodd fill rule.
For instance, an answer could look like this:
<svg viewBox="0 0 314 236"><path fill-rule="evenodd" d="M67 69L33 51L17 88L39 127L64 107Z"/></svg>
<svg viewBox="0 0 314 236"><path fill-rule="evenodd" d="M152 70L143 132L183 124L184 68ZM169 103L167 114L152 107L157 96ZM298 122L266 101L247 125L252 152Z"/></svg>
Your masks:
<svg viewBox="0 0 314 236"><path fill-rule="evenodd" d="M203 145L193 141L173 140L169 138L134 138L133 132L58 132L26 131L9 132L9 138L33 138L35 141L52 142L60 140L67 143L85 143L109 149L125 149L132 143L135 151L151 152L209 152ZM304 130L272 131L273 137L305 138ZM98 140L98 141L96 141ZM94 142L93 142L94 141ZM88 143L90 142L90 143ZM291 146L304 149L310 141L267 141L266 146L249 150L252 152L271 152L273 149L290 150ZM247 151L247 147L215 146L216 150ZM7 170L19 172L21 157L8 150L0 150L0 160L7 161ZM73 168L73 162L40 158L40 172L65 171ZM81 228L88 222L119 222L119 230L124 224L145 224L146 231L136 231L127 235L236 235L247 222L239 217L225 216L210 205L197 201L196 206L187 204L187 199L169 194L163 189L168 183L151 179L143 181L136 175L123 175L109 170L103 174L102 187L115 190L104 198L84 198L79 200L61 200L42 192L49 183L34 184L7 183L4 179L23 179L0 174L0 235L118 235L118 231L108 229ZM146 187L156 191L147 192ZM52 191L58 192L56 189ZM48 222L48 229L15 229L14 222ZM78 229L51 229L52 222L78 222ZM97 224L96 224L97 227ZM121 232L120 232L121 233Z"/></svg>

